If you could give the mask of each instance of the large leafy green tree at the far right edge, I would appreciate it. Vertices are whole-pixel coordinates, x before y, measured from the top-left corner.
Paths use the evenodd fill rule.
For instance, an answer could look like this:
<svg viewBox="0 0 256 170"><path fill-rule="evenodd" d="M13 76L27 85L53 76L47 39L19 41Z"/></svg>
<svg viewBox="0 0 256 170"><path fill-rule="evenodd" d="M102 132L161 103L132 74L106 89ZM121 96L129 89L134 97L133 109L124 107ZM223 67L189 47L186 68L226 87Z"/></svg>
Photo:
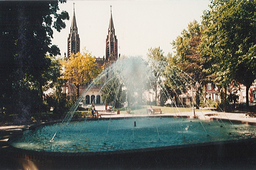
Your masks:
<svg viewBox="0 0 256 170"><path fill-rule="evenodd" d="M203 15L202 57L219 86L237 81L248 91L256 79L256 1L212 1ZM224 97L224 100L226 98ZM224 107L225 109L225 107Z"/></svg>

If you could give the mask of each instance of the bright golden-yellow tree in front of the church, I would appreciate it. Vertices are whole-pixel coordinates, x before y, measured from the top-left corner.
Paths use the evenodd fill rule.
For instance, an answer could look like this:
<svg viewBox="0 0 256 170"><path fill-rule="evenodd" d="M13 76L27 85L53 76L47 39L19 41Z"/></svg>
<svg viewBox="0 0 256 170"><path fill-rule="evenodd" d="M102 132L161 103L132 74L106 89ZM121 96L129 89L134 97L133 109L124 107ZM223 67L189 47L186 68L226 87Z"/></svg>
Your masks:
<svg viewBox="0 0 256 170"><path fill-rule="evenodd" d="M82 53L71 53L70 58L61 64L65 68L63 79L71 81L76 86L76 98L79 98L79 87L93 81L104 68L97 67L95 58L85 48Z"/></svg>

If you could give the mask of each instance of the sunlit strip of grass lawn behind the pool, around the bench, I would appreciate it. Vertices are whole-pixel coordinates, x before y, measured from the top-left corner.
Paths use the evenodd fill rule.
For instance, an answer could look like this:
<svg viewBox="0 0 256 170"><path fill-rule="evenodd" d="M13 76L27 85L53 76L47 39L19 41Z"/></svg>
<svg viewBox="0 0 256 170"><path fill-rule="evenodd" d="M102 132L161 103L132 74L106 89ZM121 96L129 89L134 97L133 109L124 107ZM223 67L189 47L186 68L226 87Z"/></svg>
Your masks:
<svg viewBox="0 0 256 170"><path fill-rule="evenodd" d="M133 106L131 108L130 114L146 114L146 109L149 108L149 105L143 105L143 106ZM183 108L183 107L161 107L161 106L152 106L153 109L160 108L162 113L178 113L178 110L180 112L192 112L192 108ZM121 114L128 114L124 108L119 109ZM199 111L199 109L195 109L195 111Z"/></svg>

